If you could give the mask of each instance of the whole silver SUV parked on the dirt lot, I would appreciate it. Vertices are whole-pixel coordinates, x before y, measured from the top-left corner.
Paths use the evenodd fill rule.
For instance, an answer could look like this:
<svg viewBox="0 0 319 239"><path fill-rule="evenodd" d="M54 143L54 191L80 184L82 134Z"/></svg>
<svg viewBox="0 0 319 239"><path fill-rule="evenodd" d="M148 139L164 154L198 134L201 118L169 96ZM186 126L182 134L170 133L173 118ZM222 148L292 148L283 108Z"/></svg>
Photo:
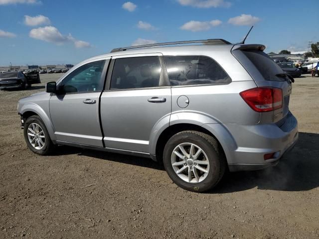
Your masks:
<svg viewBox="0 0 319 239"><path fill-rule="evenodd" d="M152 158L197 192L225 170L276 165L298 139L294 79L264 49L210 39L87 59L19 101L25 141L40 155L64 144Z"/></svg>

